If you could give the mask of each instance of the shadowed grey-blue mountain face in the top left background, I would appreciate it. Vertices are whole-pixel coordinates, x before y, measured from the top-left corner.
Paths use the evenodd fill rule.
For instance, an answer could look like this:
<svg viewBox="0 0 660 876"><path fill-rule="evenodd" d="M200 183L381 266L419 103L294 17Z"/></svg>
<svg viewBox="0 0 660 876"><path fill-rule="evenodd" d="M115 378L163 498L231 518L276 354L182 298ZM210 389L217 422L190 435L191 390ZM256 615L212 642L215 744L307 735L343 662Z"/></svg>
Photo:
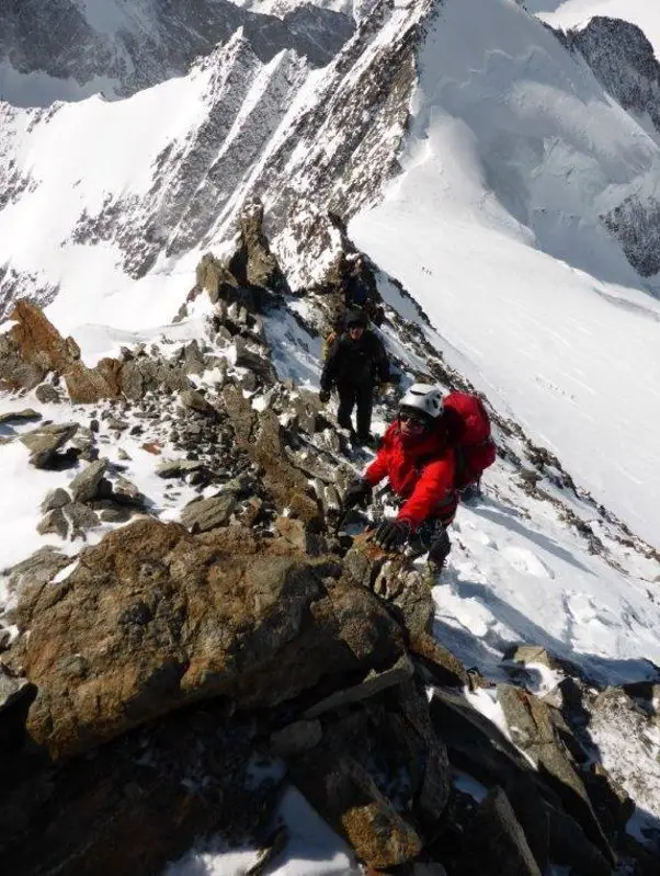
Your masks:
<svg viewBox="0 0 660 876"><path fill-rule="evenodd" d="M105 96L123 98L185 73L194 58L208 55L240 27L263 62L291 48L321 67L352 35L354 22L311 5L281 20L228 0L140 0L96 8L76 0L9 0L0 5L0 64L80 86L101 80ZM5 100L22 102L14 101L7 83L2 90Z"/></svg>

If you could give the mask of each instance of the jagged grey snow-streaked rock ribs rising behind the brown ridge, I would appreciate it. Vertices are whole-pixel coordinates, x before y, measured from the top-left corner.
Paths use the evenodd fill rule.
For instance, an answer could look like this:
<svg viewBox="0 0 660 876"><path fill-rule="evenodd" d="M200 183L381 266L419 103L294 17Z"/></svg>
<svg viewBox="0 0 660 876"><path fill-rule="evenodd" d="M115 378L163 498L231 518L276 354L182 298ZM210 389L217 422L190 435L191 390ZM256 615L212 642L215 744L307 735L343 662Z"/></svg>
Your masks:
<svg viewBox="0 0 660 876"><path fill-rule="evenodd" d="M201 62L201 70L213 71L206 117L157 158L147 196L109 196L98 213L80 216L71 241L114 242L124 270L140 277L162 255L229 237L244 203L258 195L269 205L268 231L292 285L319 282L341 252L329 214L348 220L378 200L399 170L417 81L416 42L435 14L433 0L397 14L388 2L377 4L295 115L286 110L307 84L304 59L284 53L264 77L250 39L235 35ZM237 129L258 75L259 100L250 101ZM328 149L328 143L335 146Z"/></svg>

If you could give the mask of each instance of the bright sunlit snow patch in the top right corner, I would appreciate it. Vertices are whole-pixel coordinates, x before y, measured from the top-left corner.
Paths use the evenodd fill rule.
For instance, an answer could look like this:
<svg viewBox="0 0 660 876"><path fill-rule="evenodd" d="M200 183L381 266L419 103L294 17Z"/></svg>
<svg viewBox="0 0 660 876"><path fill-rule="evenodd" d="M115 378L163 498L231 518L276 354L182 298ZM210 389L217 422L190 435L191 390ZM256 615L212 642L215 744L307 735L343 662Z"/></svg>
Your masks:
<svg viewBox="0 0 660 876"><path fill-rule="evenodd" d="M530 12L553 27L580 27L594 15L623 19L641 27L660 56L660 9L652 0L524 0Z"/></svg>

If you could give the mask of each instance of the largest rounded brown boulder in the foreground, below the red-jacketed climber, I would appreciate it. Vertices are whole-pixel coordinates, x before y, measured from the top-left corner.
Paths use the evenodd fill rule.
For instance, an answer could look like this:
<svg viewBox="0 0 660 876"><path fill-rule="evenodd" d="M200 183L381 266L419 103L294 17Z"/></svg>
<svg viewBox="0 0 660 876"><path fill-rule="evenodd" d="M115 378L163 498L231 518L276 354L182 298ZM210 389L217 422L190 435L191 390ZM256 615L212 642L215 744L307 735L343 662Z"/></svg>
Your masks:
<svg viewBox="0 0 660 876"><path fill-rule="evenodd" d="M140 520L26 588L12 651L38 687L29 731L53 755L88 750L187 703L268 707L345 673L386 669L402 633L368 591L284 539L194 537Z"/></svg>

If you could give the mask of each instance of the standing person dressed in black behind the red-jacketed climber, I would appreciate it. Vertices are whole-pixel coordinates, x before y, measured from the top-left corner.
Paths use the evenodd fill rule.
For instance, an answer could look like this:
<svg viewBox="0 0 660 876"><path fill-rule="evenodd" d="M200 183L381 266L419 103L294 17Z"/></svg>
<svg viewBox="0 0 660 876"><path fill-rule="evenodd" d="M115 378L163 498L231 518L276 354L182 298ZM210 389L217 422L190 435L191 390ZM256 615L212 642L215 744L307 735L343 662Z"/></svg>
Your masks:
<svg viewBox="0 0 660 876"><path fill-rule="evenodd" d="M339 409L337 420L342 429L353 432L351 416L357 406L356 441L368 443L372 426L373 395L376 383L389 380L389 362L380 340L366 328L362 310L351 310L345 319L345 332L330 348L321 374L319 398L330 400L337 387Z"/></svg>

